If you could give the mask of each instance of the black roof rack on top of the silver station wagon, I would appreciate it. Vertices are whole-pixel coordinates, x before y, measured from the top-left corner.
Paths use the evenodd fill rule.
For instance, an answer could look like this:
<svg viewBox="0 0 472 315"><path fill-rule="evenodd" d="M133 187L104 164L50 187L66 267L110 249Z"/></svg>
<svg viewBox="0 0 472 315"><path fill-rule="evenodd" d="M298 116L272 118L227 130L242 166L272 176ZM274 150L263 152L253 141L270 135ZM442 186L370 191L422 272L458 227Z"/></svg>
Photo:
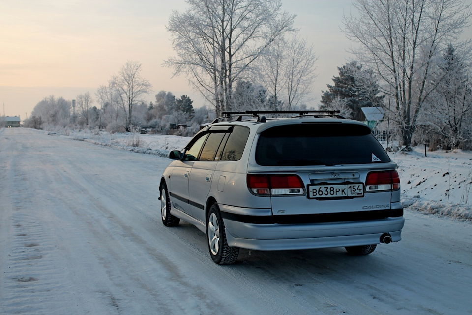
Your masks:
<svg viewBox="0 0 472 315"><path fill-rule="evenodd" d="M313 116L313 117L324 117L324 116L331 116L331 117L337 117L337 118L345 118L341 115L340 110L246 110L244 112L222 112L224 116L216 118L213 123L217 123L220 119L223 118L230 118L230 117L235 117L238 116L236 121L241 121L242 116L251 116L251 117L257 117L257 121L261 123L266 122L266 117L265 116L259 116L260 114L272 114L272 115L277 115L277 114L296 114L296 116L292 116L291 118L295 117L304 117L304 116Z"/></svg>

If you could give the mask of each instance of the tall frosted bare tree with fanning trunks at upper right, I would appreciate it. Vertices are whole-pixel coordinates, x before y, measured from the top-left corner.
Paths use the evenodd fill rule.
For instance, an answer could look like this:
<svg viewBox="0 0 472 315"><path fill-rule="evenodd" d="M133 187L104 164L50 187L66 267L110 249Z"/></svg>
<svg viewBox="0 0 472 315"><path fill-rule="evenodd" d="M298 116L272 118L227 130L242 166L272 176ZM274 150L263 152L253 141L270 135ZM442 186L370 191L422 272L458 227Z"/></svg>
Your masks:
<svg viewBox="0 0 472 315"><path fill-rule="evenodd" d="M354 0L344 17L358 60L379 75L383 93L394 99L402 144L411 150L418 115L436 89L435 60L456 42L471 17L462 0Z"/></svg>

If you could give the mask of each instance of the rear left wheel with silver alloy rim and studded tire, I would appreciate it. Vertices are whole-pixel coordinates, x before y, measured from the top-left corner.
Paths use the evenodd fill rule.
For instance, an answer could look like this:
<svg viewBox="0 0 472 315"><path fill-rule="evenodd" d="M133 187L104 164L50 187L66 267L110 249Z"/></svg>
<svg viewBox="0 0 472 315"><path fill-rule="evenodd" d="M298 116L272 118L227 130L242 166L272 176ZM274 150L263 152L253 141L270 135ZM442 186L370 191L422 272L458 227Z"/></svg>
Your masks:
<svg viewBox="0 0 472 315"><path fill-rule="evenodd" d="M211 259L218 265L231 265L236 262L238 247L228 246L225 225L217 204L210 207L207 215L207 239Z"/></svg>

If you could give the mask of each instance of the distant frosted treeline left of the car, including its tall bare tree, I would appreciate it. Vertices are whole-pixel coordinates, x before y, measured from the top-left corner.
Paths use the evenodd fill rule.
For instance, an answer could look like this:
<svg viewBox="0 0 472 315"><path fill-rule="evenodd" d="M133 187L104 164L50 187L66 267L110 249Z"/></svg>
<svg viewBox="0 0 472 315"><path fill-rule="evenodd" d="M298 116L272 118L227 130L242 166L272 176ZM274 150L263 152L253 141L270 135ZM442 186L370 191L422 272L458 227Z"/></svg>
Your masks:
<svg viewBox="0 0 472 315"><path fill-rule="evenodd" d="M161 91L155 95L154 103L146 103L143 99L150 93L151 85L140 76L140 71L140 63L128 61L94 96L86 92L74 100L45 97L24 125L37 129L98 128L109 132L145 127L167 132L170 126L185 123L192 133L209 119L208 110L202 107L195 111L193 100L187 95L176 98L171 92Z"/></svg>

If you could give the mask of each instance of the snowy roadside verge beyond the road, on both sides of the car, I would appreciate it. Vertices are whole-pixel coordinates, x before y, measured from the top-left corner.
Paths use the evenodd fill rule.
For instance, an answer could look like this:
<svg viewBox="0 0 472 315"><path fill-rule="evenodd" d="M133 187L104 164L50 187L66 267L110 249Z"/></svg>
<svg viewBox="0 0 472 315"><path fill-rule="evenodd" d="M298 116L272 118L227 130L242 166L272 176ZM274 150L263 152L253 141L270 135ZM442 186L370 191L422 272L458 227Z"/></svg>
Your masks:
<svg viewBox="0 0 472 315"><path fill-rule="evenodd" d="M51 133L57 134L59 133ZM69 130L62 136L136 153L167 157L181 150L191 137L136 133L110 134L104 131ZM472 152L462 150L389 153L398 164L405 209L424 214L472 221Z"/></svg>

